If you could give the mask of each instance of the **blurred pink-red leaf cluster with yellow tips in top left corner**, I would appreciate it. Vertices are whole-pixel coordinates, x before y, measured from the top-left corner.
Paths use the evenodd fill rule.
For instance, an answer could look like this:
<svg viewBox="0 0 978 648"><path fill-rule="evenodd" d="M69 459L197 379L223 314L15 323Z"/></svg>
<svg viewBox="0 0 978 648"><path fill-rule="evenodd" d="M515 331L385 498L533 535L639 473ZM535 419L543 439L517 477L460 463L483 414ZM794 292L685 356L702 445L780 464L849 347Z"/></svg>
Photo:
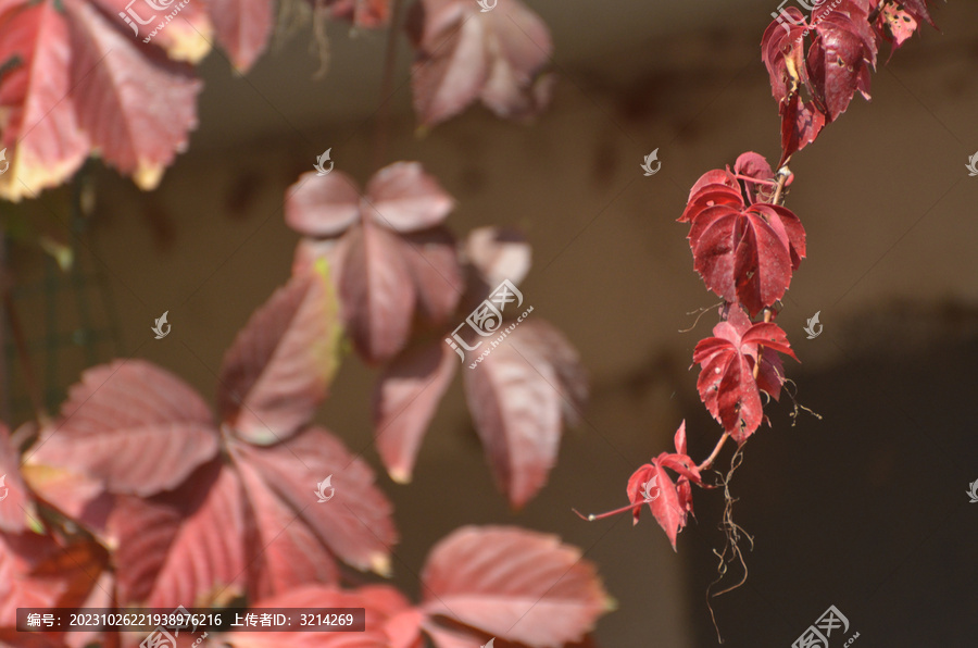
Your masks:
<svg viewBox="0 0 978 648"><path fill-rule="evenodd" d="M164 11L139 0L131 9L150 22L134 34L125 22L130 4L0 3L0 148L11 161L0 197L20 200L59 185L92 153L140 187L155 187L197 126L201 84L190 63L216 40L247 71L265 50L275 18L273 0L153 3ZM329 4L334 16L360 26L387 17L386 0Z"/></svg>

